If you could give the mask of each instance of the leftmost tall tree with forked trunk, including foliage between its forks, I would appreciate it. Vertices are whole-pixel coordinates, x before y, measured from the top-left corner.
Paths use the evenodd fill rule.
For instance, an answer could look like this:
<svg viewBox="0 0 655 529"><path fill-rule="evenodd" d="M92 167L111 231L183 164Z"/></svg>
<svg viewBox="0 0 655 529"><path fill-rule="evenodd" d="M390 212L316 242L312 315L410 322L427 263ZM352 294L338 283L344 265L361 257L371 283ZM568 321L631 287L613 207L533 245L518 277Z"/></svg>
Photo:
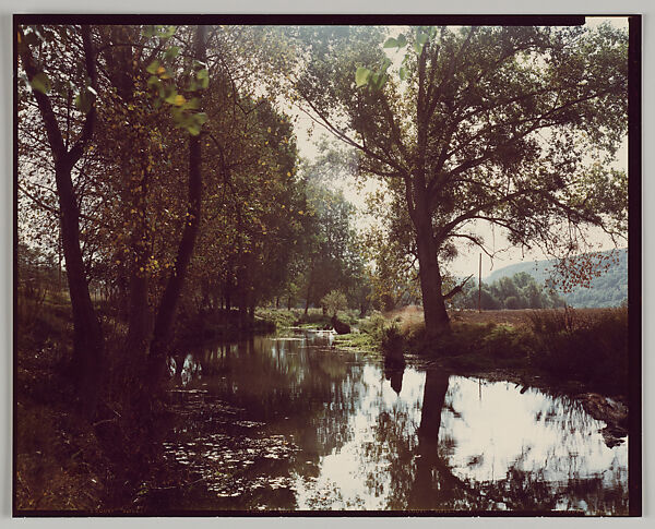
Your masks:
<svg viewBox="0 0 655 529"><path fill-rule="evenodd" d="M19 56L38 105L53 160L61 241L73 310L73 368L76 374L76 384L81 390L82 402L85 405L86 411L93 413L97 401L99 378L103 373L104 340L103 329L88 292L86 269L82 259L80 197L75 192L72 171L93 137L96 120L96 109L93 104L97 88L96 57L91 26L83 25L80 28L62 27L58 33L47 27L40 29L19 28L16 36ZM46 71L47 64L39 60L48 57L48 51L61 57L62 51L52 51L52 48L74 39L81 39L83 49L83 67L81 70L87 79L78 87L78 111L84 115L84 118L81 128L76 132L76 137L70 134L70 113L67 118L62 118L57 112L56 104L49 96L52 80ZM35 48L38 55L34 52ZM73 72L69 72L69 75ZM74 81L79 81L79 77L80 75L75 76L73 74L66 80L70 88L72 88ZM62 124L66 134L62 132Z"/></svg>

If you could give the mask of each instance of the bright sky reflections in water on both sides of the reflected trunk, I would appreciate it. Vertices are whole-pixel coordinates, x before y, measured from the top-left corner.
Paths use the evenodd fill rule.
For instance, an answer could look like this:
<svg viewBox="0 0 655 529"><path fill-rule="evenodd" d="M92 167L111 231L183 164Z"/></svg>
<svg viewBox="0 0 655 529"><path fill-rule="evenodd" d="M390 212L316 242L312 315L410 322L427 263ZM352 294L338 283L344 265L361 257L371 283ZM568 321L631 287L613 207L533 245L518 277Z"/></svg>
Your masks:
<svg viewBox="0 0 655 529"><path fill-rule="evenodd" d="M425 373L405 370L402 392L396 395L379 368L364 366L357 383L361 386L359 406L349 418L350 438L320 459L317 479L297 478L299 508L386 507L392 480L389 450L394 446L379 446L376 424L381 413L406 417L405 436L416 447L425 377ZM511 469L517 469L553 488L602 476L605 486L626 489L627 443L608 448L599 433L605 423L574 401L555 399L537 389L520 390L511 383L451 376L439 438L449 441L448 448L440 443L440 455L453 474L489 482L505 479ZM366 447L373 444L378 452L369 456ZM374 488L367 485L371 473ZM562 498L558 507L584 508L585 503Z"/></svg>

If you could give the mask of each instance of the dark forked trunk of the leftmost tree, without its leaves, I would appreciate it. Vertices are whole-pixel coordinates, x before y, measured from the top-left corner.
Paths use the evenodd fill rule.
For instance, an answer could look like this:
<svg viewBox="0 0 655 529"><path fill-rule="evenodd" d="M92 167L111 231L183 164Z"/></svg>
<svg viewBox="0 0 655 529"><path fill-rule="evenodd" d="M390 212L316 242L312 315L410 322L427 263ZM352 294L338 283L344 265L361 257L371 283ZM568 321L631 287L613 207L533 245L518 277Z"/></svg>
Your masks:
<svg viewBox="0 0 655 529"><path fill-rule="evenodd" d="M97 86L97 75L90 26L83 25L81 34L86 73L91 80L91 86L95 88ZM25 40L22 31L19 31L19 41L23 43ZM40 69L37 67L32 51L26 44L20 47L20 56L27 79L32 82L40 73ZM71 172L93 136L96 110L95 106L92 106L86 113L81 136L69 151L66 147L50 98L38 89L33 89L33 94L44 120L48 143L55 161L55 181L61 223L61 243L73 312L74 383L80 392L81 402L85 412L88 416L93 416L103 376L104 338L100 322L91 301L84 261L82 259L80 211Z"/></svg>

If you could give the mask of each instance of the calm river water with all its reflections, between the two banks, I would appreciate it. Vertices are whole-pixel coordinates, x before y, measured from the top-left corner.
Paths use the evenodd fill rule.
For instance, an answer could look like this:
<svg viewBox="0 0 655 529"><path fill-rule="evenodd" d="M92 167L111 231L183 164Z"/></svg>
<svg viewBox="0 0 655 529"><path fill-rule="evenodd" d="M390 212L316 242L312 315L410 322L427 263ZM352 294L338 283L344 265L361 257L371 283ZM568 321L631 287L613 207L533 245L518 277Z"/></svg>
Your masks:
<svg viewBox="0 0 655 529"><path fill-rule="evenodd" d="M166 508L628 510L628 441L565 397L385 374L311 332L190 352L175 381L165 448L199 478Z"/></svg>

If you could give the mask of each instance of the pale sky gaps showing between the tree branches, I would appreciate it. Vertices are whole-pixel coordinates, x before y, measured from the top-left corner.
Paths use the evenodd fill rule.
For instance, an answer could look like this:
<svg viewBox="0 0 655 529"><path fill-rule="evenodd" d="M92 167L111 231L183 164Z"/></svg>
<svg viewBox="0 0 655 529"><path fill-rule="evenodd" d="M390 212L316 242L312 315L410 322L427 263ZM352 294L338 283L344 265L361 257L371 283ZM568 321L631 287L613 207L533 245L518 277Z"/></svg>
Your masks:
<svg viewBox="0 0 655 529"><path fill-rule="evenodd" d="M621 28L628 28L628 19L627 17L606 17L606 16L596 16L596 17L587 17L586 23L591 27L595 27L606 21L609 21L612 25ZM398 33L398 28L394 27L390 36L395 36ZM311 118L308 116L298 112L297 110L291 109L290 112L297 116L296 122L296 134L298 142L298 149L301 157L311 160L317 154L317 142L320 137L330 137L330 134L325 132L321 127L315 125L313 128L313 133L308 134L308 130L310 129L310 124L312 122ZM615 167L623 170L628 170L628 140L626 139L621 148L618 151L615 161ZM333 185L336 189L341 189L344 192L345 197L350 201L360 212L357 221L357 228L362 230L366 229L371 223L374 223L374 219L370 216L366 216L364 214L365 211L365 200L368 193L371 193L379 189L380 185L383 185L382 182L376 179L370 179L362 189L358 190L355 185L355 179L347 175L342 176L338 179L335 179L334 182L330 182L330 185ZM503 235L503 231L498 227L492 228L488 224L478 223L475 228L476 232L484 237L485 242L489 249L492 250L501 250L509 247L508 240ZM595 245L598 247L598 250L608 250L615 248L611 240L604 236L602 231L596 230L593 232L592 239ZM466 248L462 245L460 248L460 255L450 264L449 269L455 276L468 276L474 274L476 277L478 275L478 266L479 266L479 255L480 250L477 247ZM501 252L497 252L493 259L490 259L488 255L483 253L483 277L488 276L491 272L500 269L504 266L509 266L515 263L521 262L534 262L536 260L549 259L540 251L526 251L520 248L510 248L509 250L503 250Z"/></svg>

